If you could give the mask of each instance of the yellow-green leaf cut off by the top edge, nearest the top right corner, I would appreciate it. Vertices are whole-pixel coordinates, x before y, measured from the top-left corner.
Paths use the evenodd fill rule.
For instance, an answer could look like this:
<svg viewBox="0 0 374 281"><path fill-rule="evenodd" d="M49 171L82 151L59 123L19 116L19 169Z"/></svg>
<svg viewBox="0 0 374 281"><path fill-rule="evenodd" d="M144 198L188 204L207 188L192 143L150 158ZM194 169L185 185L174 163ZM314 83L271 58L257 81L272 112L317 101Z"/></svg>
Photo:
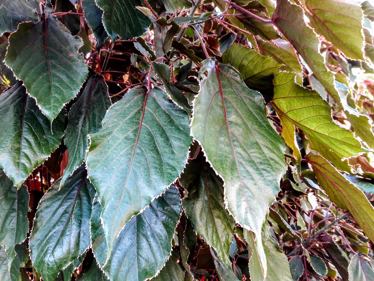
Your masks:
<svg viewBox="0 0 374 281"><path fill-rule="evenodd" d="M362 12L354 1L303 0L303 6L315 32L325 37L353 60L364 60L362 48Z"/></svg>

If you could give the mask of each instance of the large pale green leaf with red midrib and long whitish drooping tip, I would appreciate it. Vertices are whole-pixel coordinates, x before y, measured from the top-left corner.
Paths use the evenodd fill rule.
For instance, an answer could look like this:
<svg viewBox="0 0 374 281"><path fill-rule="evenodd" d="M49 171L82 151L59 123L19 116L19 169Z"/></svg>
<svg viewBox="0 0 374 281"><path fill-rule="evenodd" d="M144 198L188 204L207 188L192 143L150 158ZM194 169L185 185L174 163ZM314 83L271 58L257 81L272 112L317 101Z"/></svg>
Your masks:
<svg viewBox="0 0 374 281"><path fill-rule="evenodd" d="M203 65L191 130L225 181L229 210L255 232L261 249L261 228L285 171L284 144L267 121L261 94L237 70L212 58Z"/></svg>

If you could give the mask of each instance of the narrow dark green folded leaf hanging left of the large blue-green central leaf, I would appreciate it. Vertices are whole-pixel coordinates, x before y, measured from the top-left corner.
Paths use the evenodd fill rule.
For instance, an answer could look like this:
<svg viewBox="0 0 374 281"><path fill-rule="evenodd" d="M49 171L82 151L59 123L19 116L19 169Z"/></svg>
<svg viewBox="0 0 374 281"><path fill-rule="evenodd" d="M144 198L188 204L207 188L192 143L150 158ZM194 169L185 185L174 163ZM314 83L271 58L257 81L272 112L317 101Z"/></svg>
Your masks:
<svg viewBox="0 0 374 281"><path fill-rule="evenodd" d="M60 186L86 159L88 134L101 129L101 121L110 106L108 87L104 78L101 75L91 76L69 111L64 139L69 158Z"/></svg>

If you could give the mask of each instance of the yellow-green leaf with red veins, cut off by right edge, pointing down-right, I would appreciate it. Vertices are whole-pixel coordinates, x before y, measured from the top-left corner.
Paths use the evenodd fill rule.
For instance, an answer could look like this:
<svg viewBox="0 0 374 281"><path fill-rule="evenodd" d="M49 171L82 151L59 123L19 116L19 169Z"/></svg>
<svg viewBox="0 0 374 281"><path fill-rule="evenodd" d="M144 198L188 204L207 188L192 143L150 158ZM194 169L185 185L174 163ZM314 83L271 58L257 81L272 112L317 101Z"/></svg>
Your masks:
<svg viewBox="0 0 374 281"><path fill-rule="evenodd" d="M374 208L365 194L322 156L310 152L306 160L330 200L339 208L349 210L368 238L374 241Z"/></svg>

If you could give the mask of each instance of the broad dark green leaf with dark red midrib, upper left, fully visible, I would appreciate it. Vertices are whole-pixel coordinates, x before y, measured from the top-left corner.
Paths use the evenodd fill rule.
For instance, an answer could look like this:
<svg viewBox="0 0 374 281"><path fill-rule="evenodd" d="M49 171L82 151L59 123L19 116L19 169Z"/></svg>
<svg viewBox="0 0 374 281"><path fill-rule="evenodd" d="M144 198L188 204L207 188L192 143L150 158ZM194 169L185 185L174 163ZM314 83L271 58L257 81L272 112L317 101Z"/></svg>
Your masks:
<svg viewBox="0 0 374 281"><path fill-rule="evenodd" d="M5 63L51 122L86 79L87 65L77 52L81 45L53 15L20 24L9 37Z"/></svg>

